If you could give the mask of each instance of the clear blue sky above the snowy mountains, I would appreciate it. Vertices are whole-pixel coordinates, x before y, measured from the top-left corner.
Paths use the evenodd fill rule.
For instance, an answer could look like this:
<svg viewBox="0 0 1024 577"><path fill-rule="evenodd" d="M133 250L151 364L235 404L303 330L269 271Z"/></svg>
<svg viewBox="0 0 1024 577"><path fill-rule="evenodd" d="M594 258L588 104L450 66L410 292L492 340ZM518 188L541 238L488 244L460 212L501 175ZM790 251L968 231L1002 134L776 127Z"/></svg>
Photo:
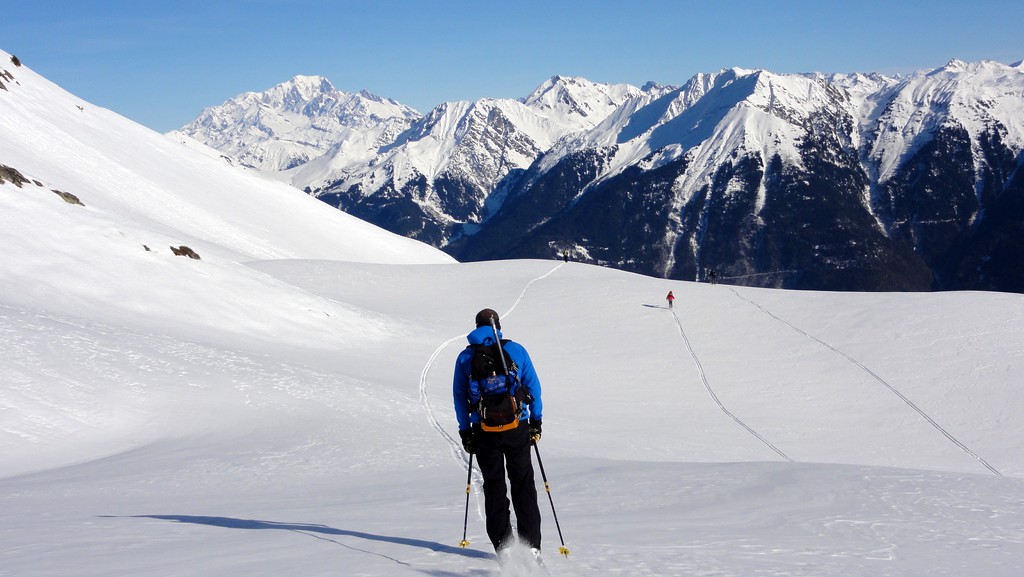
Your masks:
<svg viewBox="0 0 1024 577"><path fill-rule="evenodd" d="M556 74L639 86L730 67L1009 64L1024 59L1022 27L1022 0L6 0L0 48L164 132L300 74L425 113Z"/></svg>

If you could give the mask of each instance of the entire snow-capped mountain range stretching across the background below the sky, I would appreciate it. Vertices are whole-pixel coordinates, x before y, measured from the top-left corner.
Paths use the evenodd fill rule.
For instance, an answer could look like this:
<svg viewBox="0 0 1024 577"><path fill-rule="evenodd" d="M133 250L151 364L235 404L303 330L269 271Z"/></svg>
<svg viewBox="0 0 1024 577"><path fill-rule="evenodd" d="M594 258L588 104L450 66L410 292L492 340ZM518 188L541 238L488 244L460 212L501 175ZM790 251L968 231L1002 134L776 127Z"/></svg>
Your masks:
<svg viewBox="0 0 1024 577"><path fill-rule="evenodd" d="M182 132L229 157L272 149L278 133L244 120L264 101L229 100ZM219 129L201 122L238 110ZM359 118L358 147L276 177L460 259L569 250L677 279L715 269L786 288L1024 291L1020 63L899 78L731 69L681 87L553 77L518 100ZM317 137L331 139L287 139Z"/></svg>

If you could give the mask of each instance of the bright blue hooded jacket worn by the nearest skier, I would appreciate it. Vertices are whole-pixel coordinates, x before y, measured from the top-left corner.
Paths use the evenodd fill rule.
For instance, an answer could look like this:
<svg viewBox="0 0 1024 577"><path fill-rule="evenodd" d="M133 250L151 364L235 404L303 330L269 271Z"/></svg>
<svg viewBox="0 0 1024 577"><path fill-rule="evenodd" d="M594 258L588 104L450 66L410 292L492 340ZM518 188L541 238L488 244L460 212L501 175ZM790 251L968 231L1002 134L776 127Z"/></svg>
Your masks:
<svg viewBox="0 0 1024 577"><path fill-rule="evenodd" d="M501 331L498 332L498 338L502 338ZM490 327L477 327L466 335L466 339L470 344L494 344L495 331ZM537 377L537 371L534 370L534 362L529 360L529 354L526 353L526 349L518 342L510 340L503 346L512 361L519 367L519 382L534 398L534 402L524 408L520 421L530 418L540 420L544 405L541 402L541 379ZM464 348L455 362L455 379L452 385L455 416L459 420L459 430L465 430L474 423L480 422L480 415L469 399L469 375L472 368L473 349Z"/></svg>

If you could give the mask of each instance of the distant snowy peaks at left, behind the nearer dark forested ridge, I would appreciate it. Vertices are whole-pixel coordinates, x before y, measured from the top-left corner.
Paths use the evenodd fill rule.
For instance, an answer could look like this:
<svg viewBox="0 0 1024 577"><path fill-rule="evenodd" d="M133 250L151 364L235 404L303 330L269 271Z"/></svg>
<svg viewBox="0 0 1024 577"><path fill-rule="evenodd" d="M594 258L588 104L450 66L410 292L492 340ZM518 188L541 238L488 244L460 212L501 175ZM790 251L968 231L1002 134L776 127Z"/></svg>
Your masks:
<svg viewBox="0 0 1024 577"><path fill-rule="evenodd" d="M311 85L330 96L309 90ZM293 99L288 105L291 110L322 110L312 104L325 97L346 99L325 79L297 77L265 93L244 94L207 109L178 134L217 149L239 164L276 172L274 177L392 232L444 246L463 225L480 222L497 209L505 179L529 167L559 138L594 128L627 101L650 99L667 90L653 84L639 89L554 77L519 100L444 102L422 117L400 106L390 115L339 115L332 110L332 122L340 118L338 124L350 127L344 133L310 126L286 135L263 120L273 115L266 111L268 106L286 108L281 94L302 94L301 102ZM408 126L404 132L389 130L402 123ZM273 126L282 124L292 130L298 123ZM359 138L360 130L372 136ZM333 145L325 140L332 136ZM388 136L392 139L384 142ZM323 141L329 150L296 166L297 159L309 156L303 145L307 141ZM263 159L280 158L275 151L283 146L293 151L287 155L289 162L267 166ZM241 158L239 151L244 151Z"/></svg>

